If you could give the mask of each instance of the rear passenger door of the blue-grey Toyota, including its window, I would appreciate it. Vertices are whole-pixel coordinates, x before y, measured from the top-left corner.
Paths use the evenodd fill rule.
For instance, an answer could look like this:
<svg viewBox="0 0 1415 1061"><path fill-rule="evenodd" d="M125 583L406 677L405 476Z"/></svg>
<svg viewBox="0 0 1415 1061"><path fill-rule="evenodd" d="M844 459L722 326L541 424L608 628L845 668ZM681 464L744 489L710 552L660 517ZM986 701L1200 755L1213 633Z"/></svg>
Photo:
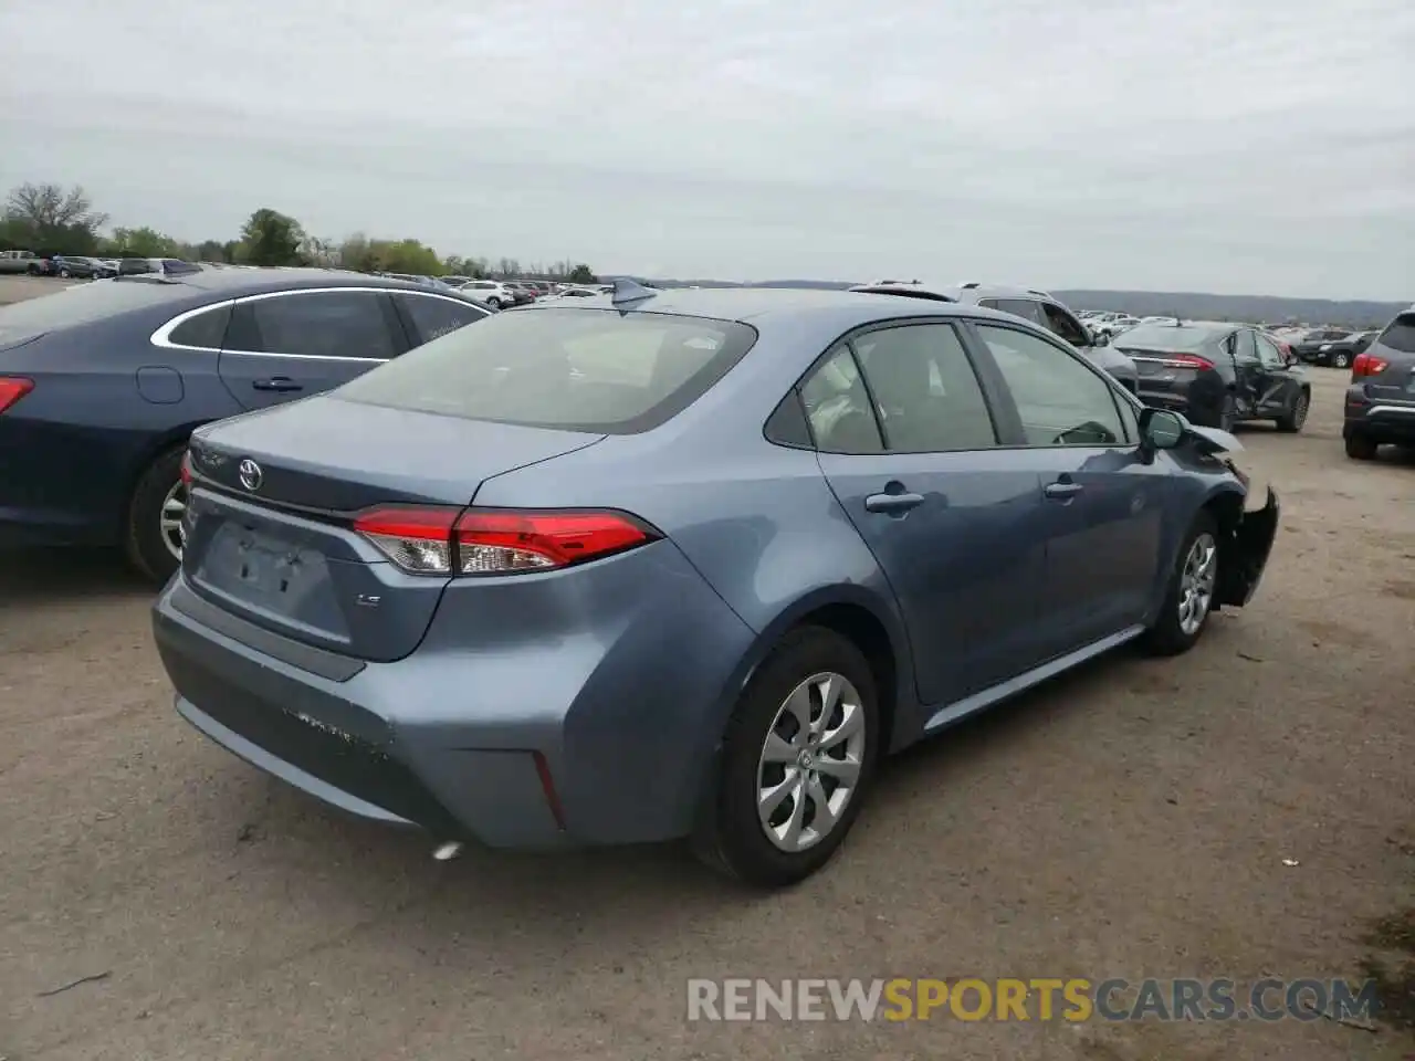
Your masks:
<svg viewBox="0 0 1415 1061"><path fill-rule="evenodd" d="M821 470L899 600L920 700L955 703L1033 665L1041 484L998 446L955 327L859 332L801 398Z"/></svg>

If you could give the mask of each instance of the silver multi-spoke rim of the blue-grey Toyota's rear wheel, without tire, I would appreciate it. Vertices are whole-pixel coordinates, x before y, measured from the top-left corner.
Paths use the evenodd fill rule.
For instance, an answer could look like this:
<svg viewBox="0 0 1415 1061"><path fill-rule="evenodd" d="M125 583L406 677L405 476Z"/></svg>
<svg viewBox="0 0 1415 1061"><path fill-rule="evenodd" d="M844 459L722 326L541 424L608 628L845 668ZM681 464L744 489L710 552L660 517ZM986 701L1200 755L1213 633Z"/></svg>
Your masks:
<svg viewBox="0 0 1415 1061"><path fill-rule="evenodd" d="M839 823L865 763L865 709L855 685L811 675L777 709L757 764L757 816L782 852L815 846Z"/></svg>

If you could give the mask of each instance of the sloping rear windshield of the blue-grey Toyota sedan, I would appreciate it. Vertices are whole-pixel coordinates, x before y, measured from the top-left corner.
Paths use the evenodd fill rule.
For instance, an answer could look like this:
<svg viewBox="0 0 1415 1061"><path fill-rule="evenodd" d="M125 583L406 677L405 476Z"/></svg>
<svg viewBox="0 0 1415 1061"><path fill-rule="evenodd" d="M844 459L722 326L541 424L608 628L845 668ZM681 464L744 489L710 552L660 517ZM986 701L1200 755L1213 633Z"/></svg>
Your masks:
<svg viewBox="0 0 1415 1061"><path fill-rule="evenodd" d="M473 420L633 434L686 409L756 340L754 328L733 321L524 310L449 332L335 393Z"/></svg>

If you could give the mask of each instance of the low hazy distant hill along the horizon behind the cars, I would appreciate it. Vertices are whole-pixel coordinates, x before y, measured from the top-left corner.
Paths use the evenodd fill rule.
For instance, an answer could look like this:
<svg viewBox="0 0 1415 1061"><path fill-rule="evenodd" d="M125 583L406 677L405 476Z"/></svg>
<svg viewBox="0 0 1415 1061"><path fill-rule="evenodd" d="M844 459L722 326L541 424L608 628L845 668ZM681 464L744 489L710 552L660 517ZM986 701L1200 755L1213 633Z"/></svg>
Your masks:
<svg viewBox="0 0 1415 1061"><path fill-rule="evenodd" d="M860 280L647 280L654 287L809 287L843 290ZM1073 310L1119 310L1136 317L1179 315L1190 320L1252 321L1264 324L1337 324L1380 328L1409 303L1279 298L1271 294L1204 294L1201 291L1054 290Z"/></svg>

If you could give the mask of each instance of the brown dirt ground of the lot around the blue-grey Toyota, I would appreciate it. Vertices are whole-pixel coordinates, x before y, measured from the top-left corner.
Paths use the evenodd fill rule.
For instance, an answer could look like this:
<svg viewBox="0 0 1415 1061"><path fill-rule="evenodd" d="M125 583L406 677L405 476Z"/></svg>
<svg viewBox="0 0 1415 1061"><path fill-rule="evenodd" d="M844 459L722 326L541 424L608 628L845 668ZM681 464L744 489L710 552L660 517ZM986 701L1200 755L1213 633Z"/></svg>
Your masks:
<svg viewBox="0 0 1415 1061"><path fill-rule="evenodd" d="M893 763L773 897L676 850L433 863L188 730L110 559L0 559L0 1057L1409 1055L1320 1019L685 1020L699 976L1358 975L1415 904L1415 464L1347 461L1312 376L1302 436L1244 433L1285 501L1251 608Z"/></svg>

